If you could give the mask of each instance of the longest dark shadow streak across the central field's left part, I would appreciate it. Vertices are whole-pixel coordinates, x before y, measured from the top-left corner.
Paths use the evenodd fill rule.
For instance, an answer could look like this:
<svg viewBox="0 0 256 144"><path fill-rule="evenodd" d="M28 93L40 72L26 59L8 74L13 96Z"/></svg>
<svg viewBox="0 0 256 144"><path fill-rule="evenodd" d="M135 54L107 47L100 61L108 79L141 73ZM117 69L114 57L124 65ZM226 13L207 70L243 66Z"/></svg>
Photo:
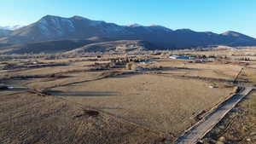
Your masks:
<svg viewBox="0 0 256 144"><path fill-rule="evenodd" d="M50 90L48 92L51 95L59 95L59 96L112 96L119 95L117 92L109 92L109 91L75 91L75 92L63 92L61 90Z"/></svg>

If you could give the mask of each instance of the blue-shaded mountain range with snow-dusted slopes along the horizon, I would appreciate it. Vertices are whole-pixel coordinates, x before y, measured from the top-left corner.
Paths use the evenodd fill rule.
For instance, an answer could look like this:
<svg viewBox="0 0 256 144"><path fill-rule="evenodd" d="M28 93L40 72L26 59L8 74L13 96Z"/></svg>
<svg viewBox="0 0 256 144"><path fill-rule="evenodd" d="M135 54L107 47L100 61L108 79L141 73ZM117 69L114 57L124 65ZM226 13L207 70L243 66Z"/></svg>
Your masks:
<svg viewBox="0 0 256 144"><path fill-rule="evenodd" d="M75 47L80 48L86 44L122 40L123 42L130 43L138 43L138 40L141 40L144 43L151 43L155 46L155 49L188 49L207 47L209 45L256 46L255 38L248 37L239 32L228 31L218 34L213 32L195 32L189 29L174 31L165 26L158 25L141 26L133 24L130 26L119 26L102 20L89 20L81 16L63 18L46 15L31 25L15 30L7 30L0 27L0 47L4 45L4 48L2 47L1 49L25 49L27 45L39 46L42 44L41 46L43 46L45 43L59 43L49 44L48 48L39 46L35 51L45 51L44 49L61 50L61 42L65 42L69 43L67 44L68 48L63 49L72 50ZM86 43L81 43L81 41L86 41ZM62 45L65 46L65 43ZM66 51L63 49L61 52ZM12 53L11 50L7 51ZM58 52L59 50L50 51Z"/></svg>

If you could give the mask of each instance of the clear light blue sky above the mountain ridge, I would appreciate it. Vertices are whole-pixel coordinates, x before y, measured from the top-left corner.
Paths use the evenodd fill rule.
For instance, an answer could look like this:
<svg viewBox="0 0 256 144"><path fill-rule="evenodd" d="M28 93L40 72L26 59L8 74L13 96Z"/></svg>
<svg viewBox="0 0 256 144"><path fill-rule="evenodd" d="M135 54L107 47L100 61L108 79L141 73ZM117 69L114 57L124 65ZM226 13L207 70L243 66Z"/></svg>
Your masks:
<svg viewBox="0 0 256 144"><path fill-rule="evenodd" d="M161 25L256 37L256 0L0 0L0 26L26 26L46 14L119 25Z"/></svg>

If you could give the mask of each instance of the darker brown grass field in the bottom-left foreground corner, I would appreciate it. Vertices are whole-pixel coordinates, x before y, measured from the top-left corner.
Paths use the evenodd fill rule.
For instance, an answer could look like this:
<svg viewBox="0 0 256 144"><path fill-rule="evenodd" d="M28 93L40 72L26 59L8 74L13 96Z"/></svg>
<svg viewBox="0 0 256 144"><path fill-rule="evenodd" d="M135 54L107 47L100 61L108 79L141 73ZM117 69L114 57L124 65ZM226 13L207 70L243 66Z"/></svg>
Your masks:
<svg viewBox="0 0 256 144"><path fill-rule="evenodd" d="M27 92L0 96L0 141L7 143L160 143L149 130L86 107Z"/></svg>

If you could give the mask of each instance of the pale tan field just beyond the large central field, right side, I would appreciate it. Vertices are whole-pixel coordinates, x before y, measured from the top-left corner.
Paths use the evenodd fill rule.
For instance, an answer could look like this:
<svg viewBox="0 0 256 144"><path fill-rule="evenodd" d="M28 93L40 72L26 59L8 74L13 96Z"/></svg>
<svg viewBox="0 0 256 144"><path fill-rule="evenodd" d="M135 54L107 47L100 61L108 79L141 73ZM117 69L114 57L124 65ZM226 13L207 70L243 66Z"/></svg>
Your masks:
<svg viewBox="0 0 256 144"><path fill-rule="evenodd" d="M174 74L179 76L201 77L201 78L216 78L232 80L241 70L240 65L225 64L219 61L210 61L202 63L189 63L187 60L165 60L160 61L158 65L166 67L168 70L165 74ZM175 71L176 70L176 71Z"/></svg>

